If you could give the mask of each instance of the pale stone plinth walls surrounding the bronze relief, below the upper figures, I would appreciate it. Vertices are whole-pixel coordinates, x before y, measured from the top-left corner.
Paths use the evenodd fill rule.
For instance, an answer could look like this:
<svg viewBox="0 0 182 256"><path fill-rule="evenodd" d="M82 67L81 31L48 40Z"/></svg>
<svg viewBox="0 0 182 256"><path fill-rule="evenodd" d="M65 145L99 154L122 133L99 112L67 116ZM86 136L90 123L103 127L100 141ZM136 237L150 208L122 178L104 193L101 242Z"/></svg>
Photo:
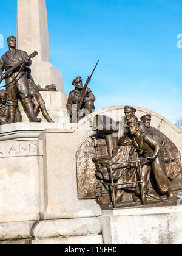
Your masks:
<svg viewBox="0 0 182 256"><path fill-rule="evenodd" d="M182 151L180 129L157 113L136 109L138 116L150 113L152 125ZM177 241L181 206L101 211L95 199L78 199L76 154L93 134L97 114L121 120L124 106L98 110L78 123L0 127L0 239L11 240L0 243ZM88 179L93 177L91 171L86 173ZM83 183L87 185L84 176Z"/></svg>

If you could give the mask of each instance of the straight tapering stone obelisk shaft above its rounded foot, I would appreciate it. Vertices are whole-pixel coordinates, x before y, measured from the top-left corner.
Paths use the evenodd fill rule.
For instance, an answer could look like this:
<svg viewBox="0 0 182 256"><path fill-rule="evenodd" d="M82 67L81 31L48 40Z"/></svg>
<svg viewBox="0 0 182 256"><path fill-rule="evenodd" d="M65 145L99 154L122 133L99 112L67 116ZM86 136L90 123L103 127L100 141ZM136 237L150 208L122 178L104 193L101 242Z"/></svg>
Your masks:
<svg viewBox="0 0 182 256"><path fill-rule="evenodd" d="M36 60L50 63L49 34L45 0L18 0L18 48L39 55Z"/></svg>

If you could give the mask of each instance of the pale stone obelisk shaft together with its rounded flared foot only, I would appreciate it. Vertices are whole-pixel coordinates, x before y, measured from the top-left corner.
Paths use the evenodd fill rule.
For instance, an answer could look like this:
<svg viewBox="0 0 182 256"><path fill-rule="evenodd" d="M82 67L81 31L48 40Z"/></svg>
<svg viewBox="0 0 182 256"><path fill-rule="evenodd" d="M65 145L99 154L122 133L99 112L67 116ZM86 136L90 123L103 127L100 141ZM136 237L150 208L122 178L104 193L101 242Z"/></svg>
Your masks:
<svg viewBox="0 0 182 256"><path fill-rule="evenodd" d="M25 50L28 54L34 50L39 53L32 65L32 76L36 84L41 87L55 84L57 90L62 92L62 100L65 99L62 74L50 63L45 0L18 0L17 39L18 49Z"/></svg>

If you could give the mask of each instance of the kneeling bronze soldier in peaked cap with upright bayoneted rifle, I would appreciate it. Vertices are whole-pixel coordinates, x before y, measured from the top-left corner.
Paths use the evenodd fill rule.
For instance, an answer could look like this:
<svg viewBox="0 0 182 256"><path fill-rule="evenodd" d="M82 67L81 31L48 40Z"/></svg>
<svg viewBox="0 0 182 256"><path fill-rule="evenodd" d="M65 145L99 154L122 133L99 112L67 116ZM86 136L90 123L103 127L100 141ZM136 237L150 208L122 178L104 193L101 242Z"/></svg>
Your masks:
<svg viewBox="0 0 182 256"><path fill-rule="evenodd" d="M96 63L96 66L98 65L98 62ZM95 68L93 69L93 72L95 71ZM70 112L72 123L78 122L81 118L89 115L95 109L93 103L95 101L95 96L93 95L90 88L87 87L92 78L92 74L87 78L84 87L80 76L77 76L72 82L72 85L75 86L75 89L70 91L66 105L67 110ZM84 110L84 112L80 113L79 110Z"/></svg>

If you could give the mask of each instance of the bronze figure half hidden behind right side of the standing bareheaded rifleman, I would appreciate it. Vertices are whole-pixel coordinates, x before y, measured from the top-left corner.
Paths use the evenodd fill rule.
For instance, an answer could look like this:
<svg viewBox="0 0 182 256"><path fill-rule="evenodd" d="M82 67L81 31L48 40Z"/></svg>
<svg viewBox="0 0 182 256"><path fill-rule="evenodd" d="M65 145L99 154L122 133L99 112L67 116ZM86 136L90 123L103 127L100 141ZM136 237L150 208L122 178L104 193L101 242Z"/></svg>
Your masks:
<svg viewBox="0 0 182 256"><path fill-rule="evenodd" d="M45 107L45 102L44 99L42 98L41 94L39 91L53 91L55 90L55 85L48 85L46 89L39 88L35 82L33 77L31 76L31 69L26 67L25 72L27 74L27 79L29 82L29 91L30 94L32 95L33 99L33 112L35 115L37 115L39 108L41 109L42 115L44 118L47 120L49 123L53 123L53 120L50 118L49 113L47 112L47 109Z"/></svg>

